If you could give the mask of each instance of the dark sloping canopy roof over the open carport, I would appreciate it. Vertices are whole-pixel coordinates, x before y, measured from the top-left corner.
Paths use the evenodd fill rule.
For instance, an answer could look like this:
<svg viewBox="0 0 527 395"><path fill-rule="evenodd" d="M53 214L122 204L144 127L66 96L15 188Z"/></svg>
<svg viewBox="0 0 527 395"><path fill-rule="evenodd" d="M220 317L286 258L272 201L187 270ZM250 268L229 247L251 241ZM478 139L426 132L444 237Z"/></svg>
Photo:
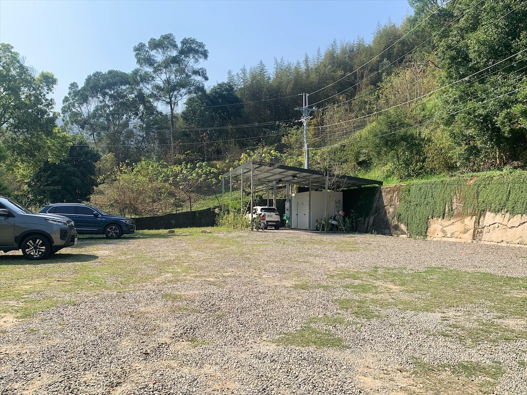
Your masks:
<svg viewBox="0 0 527 395"><path fill-rule="evenodd" d="M301 186L324 189L326 187L326 175L310 169L301 169L300 167L291 167L286 165L264 164L259 162L247 162L228 173L223 174L224 180L241 179L243 174L244 179L249 179L251 176L251 167L257 184L270 184L277 181L280 184L295 184ZM247 178L246 178L247 177ZM345 189L354 186L364 185L382 185L382 181L361 179L359 177L352 177L349 175L329 174L329 187L337 187L338 189Z"/></svg>

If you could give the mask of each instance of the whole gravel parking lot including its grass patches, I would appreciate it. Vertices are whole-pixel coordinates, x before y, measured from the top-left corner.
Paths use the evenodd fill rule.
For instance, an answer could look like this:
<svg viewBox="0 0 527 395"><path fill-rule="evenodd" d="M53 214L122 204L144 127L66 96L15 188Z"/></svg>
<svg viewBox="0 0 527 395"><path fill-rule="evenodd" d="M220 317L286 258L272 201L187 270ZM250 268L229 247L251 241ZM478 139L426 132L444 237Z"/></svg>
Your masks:
<svg viewBox="0 0 527 395"><path fill-rule="evenodd" d="M158 231L0 270L2 395L527 394L524 248Z"/></svg>

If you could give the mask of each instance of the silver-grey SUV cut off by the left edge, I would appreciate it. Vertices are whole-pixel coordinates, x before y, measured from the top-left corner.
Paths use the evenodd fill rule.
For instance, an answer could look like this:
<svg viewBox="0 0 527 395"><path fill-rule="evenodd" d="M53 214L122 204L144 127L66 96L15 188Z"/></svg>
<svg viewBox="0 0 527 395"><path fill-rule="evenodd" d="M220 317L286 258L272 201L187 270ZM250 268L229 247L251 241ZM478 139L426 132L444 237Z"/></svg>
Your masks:
<svg viewBox="0 0 527 395"><path fill-rule="evenodd" d="M26 259L45 259L77 243L77 230L69 218L36 214L0 196L0 251L22 250Z"/></svg>

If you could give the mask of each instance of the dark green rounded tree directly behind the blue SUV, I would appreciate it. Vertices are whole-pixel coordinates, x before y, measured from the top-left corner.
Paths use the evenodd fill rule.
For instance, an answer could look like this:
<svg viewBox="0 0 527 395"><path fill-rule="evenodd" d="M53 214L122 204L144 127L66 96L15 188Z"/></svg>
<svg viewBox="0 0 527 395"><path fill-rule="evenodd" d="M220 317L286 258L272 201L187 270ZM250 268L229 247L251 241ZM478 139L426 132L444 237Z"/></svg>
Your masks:
<svg viewBox="0 0 527 395"><path fill-rule="evenodd" d="M79 136L69 155L58 163L46 162L27 183L25 201L31 205L90 200L96 185L95 163L99 153Z"/></svg>

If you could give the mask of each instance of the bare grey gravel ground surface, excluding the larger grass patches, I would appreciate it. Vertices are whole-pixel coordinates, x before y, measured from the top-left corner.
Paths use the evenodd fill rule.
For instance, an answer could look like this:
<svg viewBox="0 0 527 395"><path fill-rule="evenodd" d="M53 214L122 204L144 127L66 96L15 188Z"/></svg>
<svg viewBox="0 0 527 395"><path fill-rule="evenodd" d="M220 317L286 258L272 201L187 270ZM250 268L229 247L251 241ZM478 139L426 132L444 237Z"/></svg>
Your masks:
<svg viewBox="0 0 527 395"><path fill-rule="evenodd" d="M200 243L169 239L171 248L188 249L195 270L182 281L87 293L29 320L4 321L0 394L527 394L524 337L466 345L438 334L451 322L445 315L469 326L495 322L485 305L353 317L335 299L368 295L351 294L332 276L434 266L527 281L527 249L286 230L203 235L204 243L207 237L265 248L248 259L239 250L214 255ZM126 242L152 250L159 243ZM395 297L407 297L393 288ZM527 333L526 319L501 324ZM341 347L279 341L306 325L341 339ZM444 368L466 361L499 364L503 374L493 381Z"/></svg>

